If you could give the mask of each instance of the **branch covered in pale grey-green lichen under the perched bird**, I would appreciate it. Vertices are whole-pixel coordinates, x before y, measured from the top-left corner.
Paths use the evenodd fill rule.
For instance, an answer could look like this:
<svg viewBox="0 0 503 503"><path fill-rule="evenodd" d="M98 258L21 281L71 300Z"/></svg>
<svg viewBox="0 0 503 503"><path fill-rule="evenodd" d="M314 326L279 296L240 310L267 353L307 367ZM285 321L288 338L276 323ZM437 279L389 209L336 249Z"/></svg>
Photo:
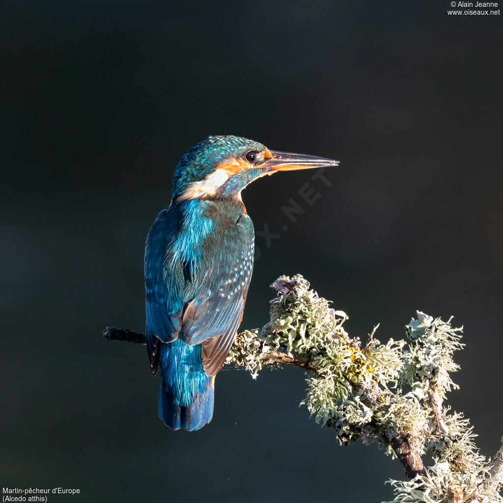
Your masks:
<svg viewBox="0 0 503 503"><path fill-rule="evenodd" d="M270 321L244 330L227 358L254 378L265 366L295 365L309 371L301 402L316 422L333 429L344 445L361 440L396 457L410 480L391 480L388 503L503 503L503 447L491 462L481 456L462 413L443 403L457 386L455 351L462 328L420 311L405 339L381 344L375 328L365 344L343 328L348 316L329 307L297 275L271 285ZM144 343L143 334L107 328L109 340ZM422 458L433 453L425 468Z"/></svg>

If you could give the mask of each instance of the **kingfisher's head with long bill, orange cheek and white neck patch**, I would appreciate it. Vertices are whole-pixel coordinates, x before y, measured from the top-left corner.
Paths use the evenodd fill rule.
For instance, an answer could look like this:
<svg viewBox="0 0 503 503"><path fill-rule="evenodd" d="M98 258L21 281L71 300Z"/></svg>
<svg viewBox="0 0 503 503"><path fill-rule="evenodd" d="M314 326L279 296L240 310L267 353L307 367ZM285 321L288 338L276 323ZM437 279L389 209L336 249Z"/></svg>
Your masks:
<svg viewBox="0 0 503 503"><path fill-rule="evenodd" d="M276 171L337 166L339 161L269 150L239 136L210 136L178 163L173 182L176 201L237 197L250 182Z"/></svg>

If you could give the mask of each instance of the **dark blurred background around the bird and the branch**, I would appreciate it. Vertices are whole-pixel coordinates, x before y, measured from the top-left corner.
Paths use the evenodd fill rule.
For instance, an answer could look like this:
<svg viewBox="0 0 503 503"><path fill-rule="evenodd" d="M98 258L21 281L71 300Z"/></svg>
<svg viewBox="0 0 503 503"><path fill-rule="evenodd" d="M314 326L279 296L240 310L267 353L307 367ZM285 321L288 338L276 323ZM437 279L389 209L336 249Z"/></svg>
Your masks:
<svg viewBox="0 0 503 503"><path fill-rule="evenodd" d="M45 4L0 6L3 486L81 490L50 501L391 499L399 463L310 421L301 370L225 369L211 424L174 433L144 348L101 337L143 330L145 235L210 134L341 161L331 187L304 171L243 193L256 230L280 237L257 237L241 326L262 326L268 285L295 273L354 336L454 314L466 349L448 403L497 450L501 16L448 16L444 0Z"/></svg>

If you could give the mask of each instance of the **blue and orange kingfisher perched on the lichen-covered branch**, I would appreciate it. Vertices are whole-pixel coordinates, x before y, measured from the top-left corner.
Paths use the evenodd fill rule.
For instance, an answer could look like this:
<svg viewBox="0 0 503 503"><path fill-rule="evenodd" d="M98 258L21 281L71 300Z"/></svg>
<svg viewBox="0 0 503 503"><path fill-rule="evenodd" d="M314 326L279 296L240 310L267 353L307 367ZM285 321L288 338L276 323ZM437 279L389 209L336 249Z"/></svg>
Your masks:
<svg viewBox="0 0 503 503"><path fill-rule="evenodd" d="M277 171L338 164L231 135L210 136L180 159L144 257L148 359L153 375L160 367L159 417L173 430L211 421L215 376L242 319L255 233L241 191Z"/></svg>

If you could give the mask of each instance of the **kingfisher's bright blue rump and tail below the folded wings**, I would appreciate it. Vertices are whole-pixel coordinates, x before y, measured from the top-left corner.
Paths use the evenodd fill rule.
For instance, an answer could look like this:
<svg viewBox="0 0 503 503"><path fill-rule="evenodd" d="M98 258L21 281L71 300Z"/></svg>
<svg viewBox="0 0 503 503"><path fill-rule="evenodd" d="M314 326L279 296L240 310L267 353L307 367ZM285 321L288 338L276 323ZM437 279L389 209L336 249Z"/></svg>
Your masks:
<svg viewBox="0 0 503 503"><path fill-rule="evenodd" d="M173 430L199 430L211 421L215 389L201 363L201 346L162 344L159 417Z"/></svg>

